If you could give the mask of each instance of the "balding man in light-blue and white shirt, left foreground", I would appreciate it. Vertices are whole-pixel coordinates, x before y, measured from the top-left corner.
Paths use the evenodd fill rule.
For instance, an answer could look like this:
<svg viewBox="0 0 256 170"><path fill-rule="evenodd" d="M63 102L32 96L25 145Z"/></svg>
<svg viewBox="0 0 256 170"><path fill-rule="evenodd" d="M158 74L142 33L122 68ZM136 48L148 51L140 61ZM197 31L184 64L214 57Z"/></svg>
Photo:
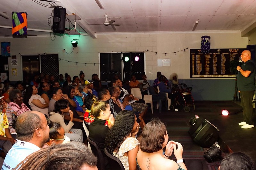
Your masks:
<svg viewBox="0 0 256 170"><path fill-rule="evenodd" d="M45 115L37 111L21 114L16 121L16 143L7 153L2 170L14 169L29 154L49 141L49 126Z"/></svg>

